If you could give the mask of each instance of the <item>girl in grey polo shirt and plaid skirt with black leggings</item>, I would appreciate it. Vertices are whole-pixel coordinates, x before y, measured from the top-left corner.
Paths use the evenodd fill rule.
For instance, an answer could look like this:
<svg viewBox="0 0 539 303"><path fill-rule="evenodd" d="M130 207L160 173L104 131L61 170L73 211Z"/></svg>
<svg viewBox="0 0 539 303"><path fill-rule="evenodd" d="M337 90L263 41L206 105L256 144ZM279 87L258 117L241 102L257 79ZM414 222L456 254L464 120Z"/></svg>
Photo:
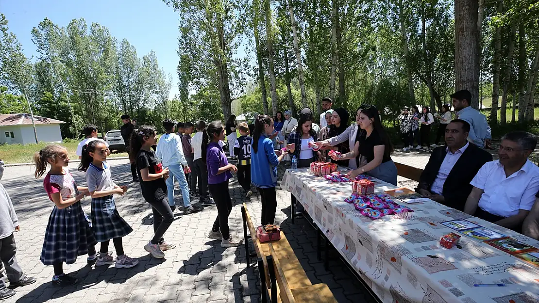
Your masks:
<svg viewBox="0 0 539 303"><path fill-rule="evenodd" d="M120 216L114 202L114 194L123 196L127 186L118 186L110 177L110 166L107 160L107 145L94 140L82 147L82 159L79 171L86 172L88 192L92 196L92 223L95 238L101 242L96 266L112 265L116 268L130 268L139 264L139 260L129 258L123 252L122 237L133 229ZM108 244L112 239L116 249L116 258L108 252Z"/></svg>

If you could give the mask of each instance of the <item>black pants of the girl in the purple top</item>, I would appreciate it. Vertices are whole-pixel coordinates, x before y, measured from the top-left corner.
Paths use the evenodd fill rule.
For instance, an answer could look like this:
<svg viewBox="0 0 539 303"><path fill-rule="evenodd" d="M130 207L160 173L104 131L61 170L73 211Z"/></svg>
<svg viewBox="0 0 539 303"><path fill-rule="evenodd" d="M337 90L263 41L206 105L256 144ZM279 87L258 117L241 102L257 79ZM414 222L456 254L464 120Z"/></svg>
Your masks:
<svg viewBox="0 0 539 303"><path fill-rule="evenodd" d="M217 206L217 218L213 222L212 231L221 231L223 239L230 238L229 215L232 212L232 200L229 193L229 180L218 184L208 184L210 193Z"/></svg>

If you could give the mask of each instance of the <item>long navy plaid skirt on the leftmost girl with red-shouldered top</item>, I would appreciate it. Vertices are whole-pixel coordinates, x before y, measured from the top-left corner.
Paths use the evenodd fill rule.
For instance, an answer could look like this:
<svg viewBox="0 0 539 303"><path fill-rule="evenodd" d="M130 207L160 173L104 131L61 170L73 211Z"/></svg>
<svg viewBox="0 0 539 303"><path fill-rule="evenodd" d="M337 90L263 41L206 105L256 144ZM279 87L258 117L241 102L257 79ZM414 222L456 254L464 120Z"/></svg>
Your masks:
<svg viewBox="0 0 539 303"><path fill-rule="evenodd" d="M86 255L88 248L97 244L92 223L82 210L80 202L64 209L54 206L45 230L45 240L39 260L45 265L75 263Z"/></svg>

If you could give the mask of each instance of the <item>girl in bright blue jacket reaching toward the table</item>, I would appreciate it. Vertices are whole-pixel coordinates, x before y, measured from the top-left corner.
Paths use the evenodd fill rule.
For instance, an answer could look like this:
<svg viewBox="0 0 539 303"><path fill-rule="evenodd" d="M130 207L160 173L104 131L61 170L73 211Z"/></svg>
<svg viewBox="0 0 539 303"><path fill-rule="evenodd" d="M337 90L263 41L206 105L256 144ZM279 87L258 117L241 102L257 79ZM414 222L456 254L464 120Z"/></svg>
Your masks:
<svg viewBox="0 0 539 303"><path fill-rule="evenodd" d="M286 115L286 114L285 114ZM277 210L277 165L287 154L273 150L273 119L268 115L259 115L254 121L253 143L251 154L251 183L258 188L262 198L262 225L273 224ZM287 146L294 152L294 144Z"/></svg>

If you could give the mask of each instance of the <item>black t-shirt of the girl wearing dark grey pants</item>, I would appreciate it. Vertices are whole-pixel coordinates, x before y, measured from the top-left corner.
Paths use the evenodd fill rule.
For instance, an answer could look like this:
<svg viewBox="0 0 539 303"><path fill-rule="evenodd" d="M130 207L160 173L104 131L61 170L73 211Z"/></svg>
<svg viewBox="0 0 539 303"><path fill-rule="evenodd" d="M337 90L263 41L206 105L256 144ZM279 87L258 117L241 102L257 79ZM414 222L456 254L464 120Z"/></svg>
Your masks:
<svg viewBox="0 0 539 303"><path fill-rule="evenodd" d="M140 171L148 167L148 173L155 174L157 160L153 151L140 150L136 156L136 168L139 174L142 196L146 201L161 201L167 196L167 184L163 178L153 181L143 181Z"/></svg>

